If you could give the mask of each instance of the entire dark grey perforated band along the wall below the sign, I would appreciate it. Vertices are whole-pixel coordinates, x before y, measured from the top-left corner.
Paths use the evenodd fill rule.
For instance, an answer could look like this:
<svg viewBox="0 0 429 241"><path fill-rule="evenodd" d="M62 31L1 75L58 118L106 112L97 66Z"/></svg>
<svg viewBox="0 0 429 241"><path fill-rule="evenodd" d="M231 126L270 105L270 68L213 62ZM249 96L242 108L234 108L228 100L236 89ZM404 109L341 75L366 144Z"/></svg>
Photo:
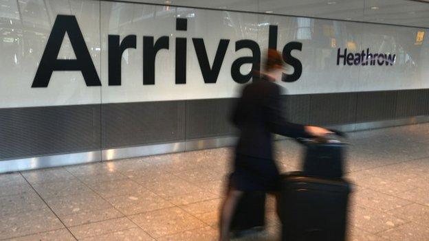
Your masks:
<svg viewBox="0 0 429 241"><path fill-rule="evenodd" d="M0 160L236 135L236 98L0 109ZM299 124L429 115L429 89L285 95Z"/></svg>

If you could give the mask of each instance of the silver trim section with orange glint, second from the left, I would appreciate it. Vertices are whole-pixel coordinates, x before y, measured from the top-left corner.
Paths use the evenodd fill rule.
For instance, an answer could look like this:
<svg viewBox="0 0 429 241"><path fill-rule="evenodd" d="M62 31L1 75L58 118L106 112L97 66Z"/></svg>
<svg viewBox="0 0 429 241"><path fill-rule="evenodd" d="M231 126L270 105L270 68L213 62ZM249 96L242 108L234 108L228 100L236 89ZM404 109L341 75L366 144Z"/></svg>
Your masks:
<svg viewBox="0 0 429 241"><path fill-rule="evenodd" d="M175 142L168 144L155 144L149 146L133 146L126 148L112 148L102 150L102 160L111 161L131 157L151 156L154 154L165 154L171 152L184 152L185 142Z"/></svg>

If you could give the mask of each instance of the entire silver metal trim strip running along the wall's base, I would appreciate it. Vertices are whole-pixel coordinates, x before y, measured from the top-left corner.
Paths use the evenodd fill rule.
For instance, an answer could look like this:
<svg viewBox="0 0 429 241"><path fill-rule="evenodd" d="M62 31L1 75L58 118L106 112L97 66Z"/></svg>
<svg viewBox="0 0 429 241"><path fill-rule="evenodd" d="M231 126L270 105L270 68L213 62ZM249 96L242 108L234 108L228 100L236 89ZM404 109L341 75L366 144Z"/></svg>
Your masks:
<svg viewBox="0 0 429 241"><path fill-rule="evenodd" d="M364 122L357 124L344 124L330 126L338 130L352 132L357 130L370 130L375 128L385 128L392 126L402 126L408 124L420 124L429 122L429 116L417 116L404 119L391 119L380 122ZM285 137L276 137L277 140L286 139ZM171 152L184 152L190 150L201 150L207 148L220 148L233 146L237 137L213 137L206 139L191 139L168 144L155 144L149 146L133 146L125 148L111 148L107 150L94 150L90 152L78 152L70 154L55 154L43 157L30 157L23 159L14 159L0 161L0 173L18 172L24 170L33 170L39 168L54 168L63 165L76 165L91 163L96 161L110 161L115 159L124 159L131 157L142 157L155 154L166 154Z"/></svg>

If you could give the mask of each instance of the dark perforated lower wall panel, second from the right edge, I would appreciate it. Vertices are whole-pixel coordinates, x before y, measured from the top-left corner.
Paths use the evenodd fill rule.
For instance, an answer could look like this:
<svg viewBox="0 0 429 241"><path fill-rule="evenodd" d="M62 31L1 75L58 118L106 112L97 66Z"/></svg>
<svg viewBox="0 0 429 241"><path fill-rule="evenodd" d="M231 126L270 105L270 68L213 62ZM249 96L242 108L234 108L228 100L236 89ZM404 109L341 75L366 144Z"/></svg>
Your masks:
<svg viewBox="0 0 429 241"><path fill-rule="evenodd" d="M356 122L372 122L394 119L397 91L373 91L358 93Z"/></svg>

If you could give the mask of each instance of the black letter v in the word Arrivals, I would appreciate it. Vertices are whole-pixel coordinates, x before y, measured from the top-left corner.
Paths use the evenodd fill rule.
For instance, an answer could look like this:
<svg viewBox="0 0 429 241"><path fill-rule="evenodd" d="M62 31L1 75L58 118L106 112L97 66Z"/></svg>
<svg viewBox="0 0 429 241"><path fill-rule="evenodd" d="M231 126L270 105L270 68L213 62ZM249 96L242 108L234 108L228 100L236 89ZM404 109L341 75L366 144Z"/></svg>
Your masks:
<svg viewBox="0 0 429 241"><path fill-rule="evenodd" d="M230 40L221 39L221 41L219 41L219 46L217 47L212 67L210 67L210 62L208 62L206 45L204 45L203 38L192 38L192 42L194 43L195 52L197 53L198 63L201 73L203 74L204 82L206 84L216 83L217 76L219 76L219 71L221 71L223 58L225 58L226 49L228 49Z"/></svg>

